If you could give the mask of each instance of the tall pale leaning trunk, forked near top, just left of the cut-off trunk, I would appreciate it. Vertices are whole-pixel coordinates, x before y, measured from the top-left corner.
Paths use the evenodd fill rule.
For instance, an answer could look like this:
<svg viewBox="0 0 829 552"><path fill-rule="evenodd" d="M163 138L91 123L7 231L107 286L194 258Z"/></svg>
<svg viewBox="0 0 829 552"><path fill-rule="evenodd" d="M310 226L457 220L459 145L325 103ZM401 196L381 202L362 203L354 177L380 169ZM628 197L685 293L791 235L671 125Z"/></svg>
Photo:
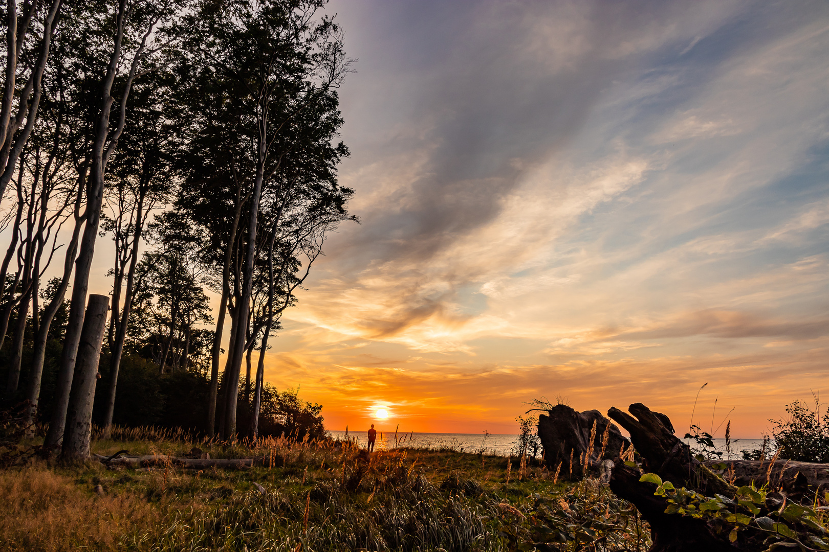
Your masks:
<svg viewBox="0 0 829 552"><path fill-rule="evenodd" d="M69 320L66 324L66 335L64 338L63 352L61 353L61 365L58 372L58 391L55 398L55 410L51 418L49 430L46 432L44 447L55 449L63 439L63 429L66 423L66 409L69 403L69 392L72 386L72 377L75 372L75 357L80 344L80 329L84 321L84 308L87 287L90 279L90 267L92 257L95 255L95 239L98 236L100 224L101 203L104 196L104 175L106 174L107 161L112 155L126 123L126 108L129 92L132 89L133 81L138 76L138 64L142 59L143 50L146 46L148 36L153 30L156 22L149 27L143 36L141 45L133 55L129 74L124 84L124 92L120 98L120 117L118 125L113 132L109 128L109 116L112 111L115 98L112 97L112 86L118 73L121 48L124 41L124 31L127 16L127 0L119 0L118 16L116 18L115 36L112 54L109 58L109 66L104 75L101 85L101 107L95 124L95 142L91 151L90 179L86 191L86 212L84 233L80 239L80 251L75 260L75 281L72 287L72 300L69 310ZM109 144L107 143L109 142Z"/></svg>

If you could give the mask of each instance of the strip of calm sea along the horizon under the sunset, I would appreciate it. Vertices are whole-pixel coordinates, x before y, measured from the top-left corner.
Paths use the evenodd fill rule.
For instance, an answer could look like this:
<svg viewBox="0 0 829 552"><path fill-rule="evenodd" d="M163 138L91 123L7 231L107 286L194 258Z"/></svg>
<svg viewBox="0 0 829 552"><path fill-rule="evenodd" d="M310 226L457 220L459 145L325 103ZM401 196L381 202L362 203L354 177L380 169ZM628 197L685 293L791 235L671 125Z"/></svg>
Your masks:
<svg viewBox="0 0 829 552"><path fill-rule="evenodd" d="M349 431L327 432L334 439L356 439L360 447L365 447L368 442L366 433ZM390 450L402 447L415 447L418 449L452 449L458 452L474 454L493 454L496 456L509 456L515 454L518 435L515 434L478 434L478 433L388 433L377 434L374 444L375 450ZM731 439L730 449L726 449L725 439L713 439L715 452L722 455L723 460L739 460L742 458L740 451L762 449L763 439ZM686 439L686 443L692 449L699 449L693 441ZM766 444L767 455L773 454L773 441ZM538 454L541 454L539 447ZM716 457L715 457L716 458Z"/></svg>

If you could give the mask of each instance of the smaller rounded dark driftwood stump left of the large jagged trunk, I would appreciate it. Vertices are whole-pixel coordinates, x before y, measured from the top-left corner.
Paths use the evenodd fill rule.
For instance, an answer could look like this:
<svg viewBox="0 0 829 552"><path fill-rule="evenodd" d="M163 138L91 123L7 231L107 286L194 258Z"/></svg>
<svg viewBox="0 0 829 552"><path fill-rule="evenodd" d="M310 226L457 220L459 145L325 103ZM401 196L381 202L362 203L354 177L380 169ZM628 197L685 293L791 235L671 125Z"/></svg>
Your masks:
<svg viewBox="0 0 829 552"><path fill-rule="evenodd" d="M582 455L589 451L588 466L595 470L601 467L603 460L618 458L619 450L630 447L628 439L622 436L616 425L611 424L599 410L576 412L570 406L556 405L538 417L538 437L544 447L544 459L547 469L555 471L560 467L559 478L578 480L584 477ZM590 434L596 425L594 442L590 444ZM602 458L602 437L608 428L608 442ZM572 461L572 469L570 462Z"/></svg>

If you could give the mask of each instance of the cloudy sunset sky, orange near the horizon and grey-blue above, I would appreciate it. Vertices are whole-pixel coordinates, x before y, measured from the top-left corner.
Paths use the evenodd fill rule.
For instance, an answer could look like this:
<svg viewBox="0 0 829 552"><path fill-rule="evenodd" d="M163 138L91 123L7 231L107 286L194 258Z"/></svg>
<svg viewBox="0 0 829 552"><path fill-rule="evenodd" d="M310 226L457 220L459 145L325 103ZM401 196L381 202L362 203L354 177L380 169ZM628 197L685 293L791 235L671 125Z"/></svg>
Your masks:
<svg viewBox="0 0 829 552"><path fill-rule="evenodd" d="M328 429L511 434L542 399L751 438L829 397L829 2L326 10L360 223L265 380Z"/></svg>

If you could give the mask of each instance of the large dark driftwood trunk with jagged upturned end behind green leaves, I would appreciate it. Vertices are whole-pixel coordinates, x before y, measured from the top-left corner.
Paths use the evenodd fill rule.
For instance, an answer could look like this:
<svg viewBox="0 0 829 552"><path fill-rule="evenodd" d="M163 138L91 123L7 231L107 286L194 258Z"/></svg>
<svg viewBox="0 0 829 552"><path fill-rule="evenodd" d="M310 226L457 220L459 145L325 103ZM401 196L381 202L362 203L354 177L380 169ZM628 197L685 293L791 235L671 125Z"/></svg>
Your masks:
<svg viewBox="0 0 829 552"><path fill-rule="evenodd" d="M670 481L676 488L686 487L706 497L719 494L728 500L736 495L738 489L712 471L711 468L721 468L715 465L719 463L710 463L710 466L706 466L705 463L694 458L688 445L673 434L671 420L666 415L653 412L641 403L629 406L628 410L633 416L616 408L611 408L608 416L630 433L633 446L641 456L642 468L631 466L617 458L613 463L613 473L610 476L610 489L618 497L633 502L633 505L642 513L642 517L650 524L653 539L651 552L696 550L705 550L705 552L756 550L759 552L767 550L768 543L764 541L770 532L761 530L759 522L741 526L742 529L735 535L736 539L732 542L729 526L725 526L720 519L711 516L695 518L665 512L666 499L654 495L657 485L639 480L643 472L656 473L662 481ZM726 466L728 464L730 463L727 462ZM768 464L766 461L763 468L759 461L756 464L734 461L733 473L738 473L739 469L741 473L739 477L744 478L738 480L734 477L734 482L740 484L747 483L751 479L763 484L766 482L767 474L773 478L777 473L778 485L781 488L779 492L768 492L764 504L755 505L759 508L755 518L769 516L771 512L780 509L787 500L799 502L804 497L802 490L807 486L807 476L804 473L814 475L827 468L826 466L817 468L815 464L811 464L808 468L797 466L797 468L804 468L803 473L789 472L788 470L795 468L794 463L789 463L784 471L785 463L779 462L779 466L773 466L769 474ZM775 468L777 472L774 471ZM726 468L726 472L728 470L729 468ZM789 478L786 473L792 473L792 477ZM822 475L822 477L825 476ZM774 482L773 479L772 482ZM773 488L777 487L773 485ZM768 520L769 523L771 521ZM823 536L822 532L817 529L802 525L798 526L797 532L798 537L804 540L810 536ZM812 549L803 548L802 550Z"/></svg>

